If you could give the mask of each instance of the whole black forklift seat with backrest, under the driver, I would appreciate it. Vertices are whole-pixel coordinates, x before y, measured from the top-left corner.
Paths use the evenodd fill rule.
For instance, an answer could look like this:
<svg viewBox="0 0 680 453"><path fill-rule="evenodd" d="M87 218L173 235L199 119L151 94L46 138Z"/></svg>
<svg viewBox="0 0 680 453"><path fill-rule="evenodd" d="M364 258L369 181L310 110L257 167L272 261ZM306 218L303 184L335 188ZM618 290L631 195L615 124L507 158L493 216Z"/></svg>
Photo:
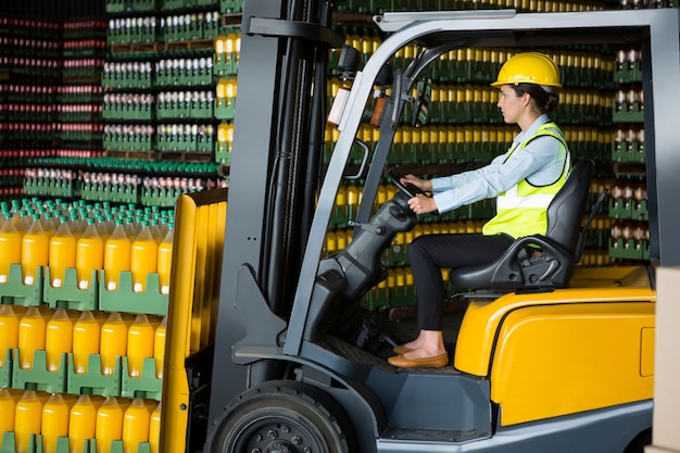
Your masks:
<svg viewBox="0 0 680 453"><path fill-rule="evenodd" d="M567 181L547 206L547 232L518 238L499 260L452 269L451 282L470 290L517 290L564 288L581 259L585 230L581 225L594 162L579 161ZM597 200L601 203L604 193ZM538 247L538 248L537 248Z"/></svg>

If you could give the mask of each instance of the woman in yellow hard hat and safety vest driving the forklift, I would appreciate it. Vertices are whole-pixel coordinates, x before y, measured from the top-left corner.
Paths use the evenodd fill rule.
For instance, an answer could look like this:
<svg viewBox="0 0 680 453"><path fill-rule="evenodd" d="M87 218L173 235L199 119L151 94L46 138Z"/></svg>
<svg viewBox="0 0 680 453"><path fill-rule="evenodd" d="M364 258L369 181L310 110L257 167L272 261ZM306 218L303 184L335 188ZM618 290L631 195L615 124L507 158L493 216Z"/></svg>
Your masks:
<svg viewBox="0 0 680 453"><path fill-rule="evenodd" d="M496 197L496 214L481 234L425 235L413 241L408 253L419 334L394 348L399 355L388 358L394 366L448 365L441 268L488 263L500 257L518 237L545 235L547 205L567 178L569 150L562 131L547 116L559 102L555 89L562 87L555 62L538 52L516 54L503 64L491 86L500 87L498 106L504 121L520 129L507 152L479 169L429 180L414 175L402 179L433 193L431 198L408 200L416 214L451 211L492 197Z"/></svg>

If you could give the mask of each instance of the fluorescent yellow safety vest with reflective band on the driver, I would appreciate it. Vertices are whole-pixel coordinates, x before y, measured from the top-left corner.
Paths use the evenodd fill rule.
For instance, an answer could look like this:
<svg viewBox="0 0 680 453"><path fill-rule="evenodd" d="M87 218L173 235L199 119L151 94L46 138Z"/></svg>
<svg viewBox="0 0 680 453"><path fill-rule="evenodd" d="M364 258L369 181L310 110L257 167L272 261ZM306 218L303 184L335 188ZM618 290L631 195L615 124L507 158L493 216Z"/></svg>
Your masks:
<svg viewBox="0 0 680 453"><path fill-rule="evenodd" d="M565 156L562 175L547 186L533 186L527 179L520 180L511 189L496 198L496 215L483 227L484 235L505 232L513 238L531 235L545 235L547 231L547 205L562 189L570 171L569 150L562 130L555 123L545 123L537 131L515 146L507 159L517 150L522 150L534 138L540 136L555 137L559 141L559 156Z"/></svg>

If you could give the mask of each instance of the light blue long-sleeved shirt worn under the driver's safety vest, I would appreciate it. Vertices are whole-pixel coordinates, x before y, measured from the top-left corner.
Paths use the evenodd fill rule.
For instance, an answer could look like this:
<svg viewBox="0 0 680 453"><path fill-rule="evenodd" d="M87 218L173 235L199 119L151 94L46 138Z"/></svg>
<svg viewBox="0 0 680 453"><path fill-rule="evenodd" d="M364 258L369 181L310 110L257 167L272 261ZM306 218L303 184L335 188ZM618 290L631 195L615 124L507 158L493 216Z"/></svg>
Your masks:
<svg viewBox="0 0 680 453"><path fill-rule="evenodd" d="M562 175L565 158L559 158L559 142L554 137L539 136L522 150L509 158L509 151L522 140L531 137L543 124L550 122L547 115L539 116L531 126L519 133L513 144L487 166L457 175L432 179L432 196L440 213L496 197L522 179L533 186L547 186Z"/></svg>

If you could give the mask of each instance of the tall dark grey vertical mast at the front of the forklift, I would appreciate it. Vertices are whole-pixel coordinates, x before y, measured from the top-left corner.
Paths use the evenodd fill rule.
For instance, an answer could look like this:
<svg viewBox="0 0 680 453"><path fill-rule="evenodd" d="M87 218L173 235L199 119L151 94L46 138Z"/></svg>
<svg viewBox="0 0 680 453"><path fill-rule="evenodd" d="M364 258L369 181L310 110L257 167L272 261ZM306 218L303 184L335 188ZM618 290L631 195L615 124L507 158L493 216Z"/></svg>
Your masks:
<svg viewBox="0 0 680 453"><path fill-rule="evenodd" d="M328 50L344 43L329 27L328 2L243 3L211 419L243 382L273 373L270 363L232 363L226 345L244 332L228 307L240 298L266 301L281 317L290 313L320 172Z"/></svg>

